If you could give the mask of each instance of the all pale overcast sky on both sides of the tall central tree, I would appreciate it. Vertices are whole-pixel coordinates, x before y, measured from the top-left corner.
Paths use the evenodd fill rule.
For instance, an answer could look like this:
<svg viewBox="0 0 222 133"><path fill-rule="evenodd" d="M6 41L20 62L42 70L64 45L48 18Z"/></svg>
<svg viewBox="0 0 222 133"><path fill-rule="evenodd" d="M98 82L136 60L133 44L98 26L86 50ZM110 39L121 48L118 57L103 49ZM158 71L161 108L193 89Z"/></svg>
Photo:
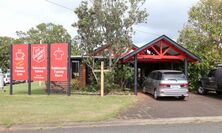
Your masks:
<svg viewBox="0 0 222 133"><path fill-rule="evenodd" d="M49 0L69 9L78 7L81 0ZM198 0L147 0L144 7L149 13L146 24L135 26L133 42L141 46L165 34L172 39L187 22L190 7ZM46 0L0 0L0 36L16 37L16 31L27 31L40 23L63 25L71 36L76 29L71 24L77 20L69 9L56 6Z"/></svg>

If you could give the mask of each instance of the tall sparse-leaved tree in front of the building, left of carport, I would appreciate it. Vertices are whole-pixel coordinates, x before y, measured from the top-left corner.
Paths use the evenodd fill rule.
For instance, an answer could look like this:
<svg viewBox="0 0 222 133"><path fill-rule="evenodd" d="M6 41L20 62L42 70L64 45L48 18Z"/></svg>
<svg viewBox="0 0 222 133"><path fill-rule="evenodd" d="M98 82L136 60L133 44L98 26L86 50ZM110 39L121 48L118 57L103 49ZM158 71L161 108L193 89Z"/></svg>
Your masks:
<svg viewBox="0 0 222 133"><path fill-rule="evenodd" d="M110 69L115 68L121 54L132 44L133 25L146 22L148 14L145 9L141 9L144 2L145 0L94 0L92 6L83 1L76 8L75 13L79 18L73 24L78 32L76 40L81 53L90 56L86 63L92 72L95 67L93 53L103 45L110 45L104 55L109 58ZM112 57L112 54L115 56Z"/></svg>

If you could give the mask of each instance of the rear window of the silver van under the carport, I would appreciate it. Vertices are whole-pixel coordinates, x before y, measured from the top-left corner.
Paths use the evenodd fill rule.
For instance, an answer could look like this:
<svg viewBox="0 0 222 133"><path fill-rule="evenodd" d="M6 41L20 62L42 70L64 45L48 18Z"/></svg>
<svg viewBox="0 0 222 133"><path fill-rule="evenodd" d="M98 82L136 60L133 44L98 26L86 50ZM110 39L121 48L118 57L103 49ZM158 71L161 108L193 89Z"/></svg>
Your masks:
<svg viewBox="0 0 222 133"><path fill-rule="evenodd" d="M185 75L182 72L164 72L163 79L185 79Z"/></svg>

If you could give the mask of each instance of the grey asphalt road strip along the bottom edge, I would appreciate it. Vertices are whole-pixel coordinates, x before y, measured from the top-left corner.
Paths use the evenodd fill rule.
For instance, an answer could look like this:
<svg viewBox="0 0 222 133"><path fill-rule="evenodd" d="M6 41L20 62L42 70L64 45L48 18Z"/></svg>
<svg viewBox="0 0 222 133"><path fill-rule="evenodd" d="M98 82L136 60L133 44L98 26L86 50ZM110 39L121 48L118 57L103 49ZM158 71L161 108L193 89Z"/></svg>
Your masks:
<svg viewBox="0 0 222 133"><path fill-rule="evenodd" d="M1 133L221 133L222 123L87 127Z"/></svg>

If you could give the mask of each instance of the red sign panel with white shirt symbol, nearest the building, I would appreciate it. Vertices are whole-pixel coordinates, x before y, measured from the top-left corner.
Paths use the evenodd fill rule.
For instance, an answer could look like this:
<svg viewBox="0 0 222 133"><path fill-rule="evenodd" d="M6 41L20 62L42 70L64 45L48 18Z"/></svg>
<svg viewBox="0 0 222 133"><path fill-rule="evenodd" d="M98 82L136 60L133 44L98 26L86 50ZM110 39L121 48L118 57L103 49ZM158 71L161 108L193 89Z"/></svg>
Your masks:
<svg viewBox="0 0 222 133"><path fill-rule="evenodd" d="M67 81L67 58L68 44L51 44L51 81Z"/></svg>

